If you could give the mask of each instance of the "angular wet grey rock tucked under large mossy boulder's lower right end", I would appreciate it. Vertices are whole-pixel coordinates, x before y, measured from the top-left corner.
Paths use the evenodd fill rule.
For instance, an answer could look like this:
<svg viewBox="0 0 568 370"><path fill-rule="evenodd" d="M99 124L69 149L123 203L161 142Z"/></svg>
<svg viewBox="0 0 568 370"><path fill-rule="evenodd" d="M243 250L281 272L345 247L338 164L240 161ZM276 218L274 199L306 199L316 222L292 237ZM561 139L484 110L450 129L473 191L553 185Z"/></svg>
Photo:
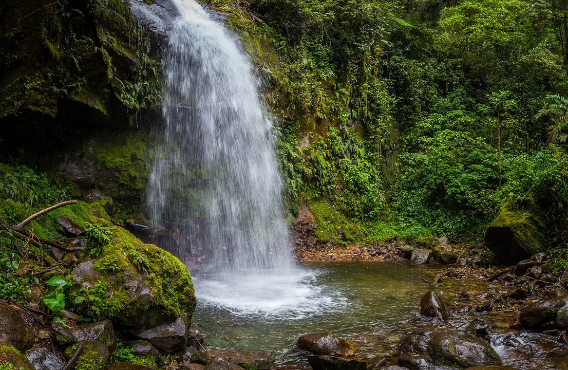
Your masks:
<svg viewBox="0 0 568 370"><path fill-rule="evenodd" d="M148 340L164 354L182 350L187 342L188 323L185 314L172 322L166 322L151 329L137 332L137 336Z"/></svg>

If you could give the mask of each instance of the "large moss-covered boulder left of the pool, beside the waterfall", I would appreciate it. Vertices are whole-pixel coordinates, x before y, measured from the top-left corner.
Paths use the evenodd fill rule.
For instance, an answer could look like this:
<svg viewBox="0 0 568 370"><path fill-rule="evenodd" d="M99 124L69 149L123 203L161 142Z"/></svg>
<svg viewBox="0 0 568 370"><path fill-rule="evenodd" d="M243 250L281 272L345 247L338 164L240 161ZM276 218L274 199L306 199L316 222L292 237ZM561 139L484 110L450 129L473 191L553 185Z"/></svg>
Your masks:
<svg viewBox="0 0 568 370"><path fill-rule="evenodd" d="M70 301L84 296L85 290L100 298L93 305L79 305L78 313L139 330L172 322L182 314L191 322L196 301L190 273L181 261L105 219L91 217L91 223L111 235L111 241L101 251L87 251L92 257L72 272Z"/></svg>

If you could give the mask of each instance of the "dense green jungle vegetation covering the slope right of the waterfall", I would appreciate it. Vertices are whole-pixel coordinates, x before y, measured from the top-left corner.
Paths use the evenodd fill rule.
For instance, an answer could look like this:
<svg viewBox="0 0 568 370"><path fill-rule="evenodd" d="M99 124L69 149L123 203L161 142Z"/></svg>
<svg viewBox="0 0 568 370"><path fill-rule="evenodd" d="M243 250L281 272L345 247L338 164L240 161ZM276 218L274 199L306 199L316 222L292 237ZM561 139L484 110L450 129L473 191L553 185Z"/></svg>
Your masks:
<svg viewBox="0 0 568 370"><path fill-rule="evenodd" d="M565 243L568 2L245 9L281 57L269 102L293 203L327 198L367 235L477 240L500 205L536 201Z"/></svg>

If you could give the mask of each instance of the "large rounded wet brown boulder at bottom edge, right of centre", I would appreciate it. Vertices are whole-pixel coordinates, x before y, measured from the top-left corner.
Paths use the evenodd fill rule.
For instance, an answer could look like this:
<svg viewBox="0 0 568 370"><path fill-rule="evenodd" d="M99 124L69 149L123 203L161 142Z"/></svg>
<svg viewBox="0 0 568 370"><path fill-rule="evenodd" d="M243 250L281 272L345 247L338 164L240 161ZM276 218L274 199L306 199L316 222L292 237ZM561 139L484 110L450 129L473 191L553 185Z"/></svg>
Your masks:
<svg viewBox="0 0 568 370"><path fill-rule="evenodd" d="M411 370L503 365L485 340L454 330L419 331L407 336L399 344L398 363Z"/></svg>

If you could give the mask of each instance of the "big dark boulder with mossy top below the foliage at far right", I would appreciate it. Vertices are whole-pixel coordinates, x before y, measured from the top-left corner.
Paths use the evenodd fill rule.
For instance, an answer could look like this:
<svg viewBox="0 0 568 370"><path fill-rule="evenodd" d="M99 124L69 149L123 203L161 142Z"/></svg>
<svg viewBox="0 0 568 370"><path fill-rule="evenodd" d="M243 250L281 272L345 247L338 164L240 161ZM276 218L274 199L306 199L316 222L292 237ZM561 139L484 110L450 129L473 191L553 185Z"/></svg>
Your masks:
<svg viewBox="0 0 568 370"><path fill-rule="evenodd" d="M544 212L534 201L505 203L485 232L483 244L506 264L516 264L542 251Z"/></svg>

